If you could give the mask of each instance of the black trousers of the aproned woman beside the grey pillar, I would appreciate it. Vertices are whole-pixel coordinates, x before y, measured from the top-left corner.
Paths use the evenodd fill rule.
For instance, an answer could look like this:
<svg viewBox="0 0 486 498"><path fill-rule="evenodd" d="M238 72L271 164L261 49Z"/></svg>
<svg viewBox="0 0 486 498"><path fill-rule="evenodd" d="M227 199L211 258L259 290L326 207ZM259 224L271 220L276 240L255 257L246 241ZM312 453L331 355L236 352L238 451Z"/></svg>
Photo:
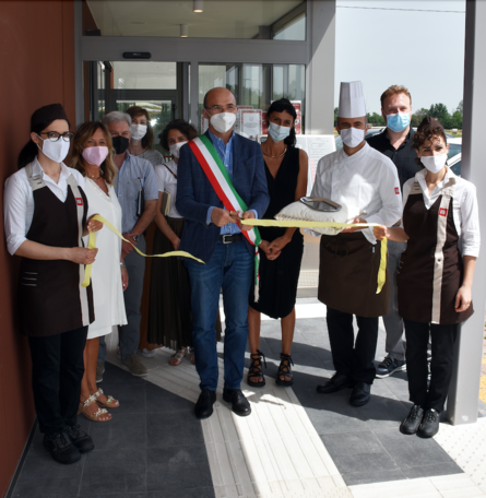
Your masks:
<svg viewBox="0 0 486 498"><path fill-rule="evenodd" d="M454 343L460 324L405 322L410 401L425 410L443 410L452 377ZM427 391L427 345L431 342L430 386Z"/></svg>

